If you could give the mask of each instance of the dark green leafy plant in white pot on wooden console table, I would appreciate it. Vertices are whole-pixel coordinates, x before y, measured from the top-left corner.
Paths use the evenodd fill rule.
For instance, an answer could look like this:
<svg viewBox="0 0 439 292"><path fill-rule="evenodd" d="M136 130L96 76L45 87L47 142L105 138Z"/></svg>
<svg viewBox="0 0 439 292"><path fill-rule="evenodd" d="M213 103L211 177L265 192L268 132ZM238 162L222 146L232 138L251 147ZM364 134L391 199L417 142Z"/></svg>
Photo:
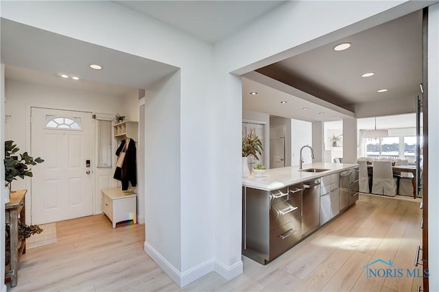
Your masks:
<svg viewBox="0 0 439 292"><path fill-rule="evenodd" d="M44 161L40 157L33 158L32 156L29 156L27 152L18 154L17 152L19 150L20 148L16 147L14 141L5 141L5 159L3 162L5 165L5 186L8 186L7 200L9 199L10 184L12 180L16 180L17 176L21 179L24 179L25 176L32 178L33 174L30 166Z"/></svg>

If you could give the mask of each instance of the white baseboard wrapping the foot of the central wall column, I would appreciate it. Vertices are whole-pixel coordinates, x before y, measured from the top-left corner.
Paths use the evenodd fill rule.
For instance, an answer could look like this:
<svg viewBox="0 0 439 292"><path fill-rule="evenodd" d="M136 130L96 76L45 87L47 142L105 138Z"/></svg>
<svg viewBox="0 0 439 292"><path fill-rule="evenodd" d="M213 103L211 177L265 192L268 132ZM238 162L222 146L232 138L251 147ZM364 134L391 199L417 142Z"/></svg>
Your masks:
<svg viewBox="0 0 439 292"><path fill-rule="evenodd" d="M215 271L219 274L219 276L222 276L226 280L231 280L242 273L243 271L243 264L240 260L239 263L236 263L235 265L232 265L231 267L226 267L222 263L219 263L215 258L211 260L207 260L204 263L201 263L200 265L193 267L192 269L189 269L188 271L185 271L184 273L181 273L176 269L171 263L169 263L161 254L159 254L154 247L149 245L146 241L144 244L144 250L145 252L154 260L154 262L158 265L158 267L161 267L165 273L167 273L167 276L169 276L178 287L185 287L187 284L190 284L191 282L198 280L202 276L210 273L211 271Z"/></svg>

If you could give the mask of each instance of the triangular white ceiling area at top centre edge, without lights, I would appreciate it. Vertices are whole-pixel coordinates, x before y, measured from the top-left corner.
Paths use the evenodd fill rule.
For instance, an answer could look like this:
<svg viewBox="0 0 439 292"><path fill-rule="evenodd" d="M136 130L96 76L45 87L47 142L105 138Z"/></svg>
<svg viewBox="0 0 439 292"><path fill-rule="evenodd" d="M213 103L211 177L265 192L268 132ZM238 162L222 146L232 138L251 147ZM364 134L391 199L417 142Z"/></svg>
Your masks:
<svg viewBox="0 0 439 292"><path fill-rule="evenodd" d="M213 43L286 1L114 2Z"/></svg>

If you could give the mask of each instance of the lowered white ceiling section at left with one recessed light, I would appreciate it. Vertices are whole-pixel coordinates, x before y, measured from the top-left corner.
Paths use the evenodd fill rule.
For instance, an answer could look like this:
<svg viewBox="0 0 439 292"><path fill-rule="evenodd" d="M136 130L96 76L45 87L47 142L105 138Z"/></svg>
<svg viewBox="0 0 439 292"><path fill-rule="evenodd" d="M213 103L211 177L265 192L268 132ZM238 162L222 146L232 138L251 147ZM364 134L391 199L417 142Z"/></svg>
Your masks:
<svg viewBox="0 0 439 292"><path fill-rule="evenodd" d="M23 25L7 19L1 19L1 62L5 65L36 71L58 77L62 86L66 80L60 75L75 75L80 80L115 84L131 88L147 88L154 82L175 72L178 68L130 55L121 51L93 45ZM102 70L93 70L90 64L100 64ZM8 73L8 68L5 72ZM25 77L30 78L28 71ZM15 76L14 78L18 78ZM56 81L54 81L56 82ZM80 82L78 82L80 83ZM81 86L81 83L78 85ZM102 87L102 84L96 84Z"/></svg>

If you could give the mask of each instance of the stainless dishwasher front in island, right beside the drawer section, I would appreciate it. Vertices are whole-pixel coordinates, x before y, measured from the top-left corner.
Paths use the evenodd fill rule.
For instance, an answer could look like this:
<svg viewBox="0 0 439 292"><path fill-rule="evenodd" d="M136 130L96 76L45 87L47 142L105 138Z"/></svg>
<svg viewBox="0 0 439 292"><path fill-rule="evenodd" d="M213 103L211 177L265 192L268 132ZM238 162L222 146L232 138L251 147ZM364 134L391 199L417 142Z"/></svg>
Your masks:
<svg viewBox="0 0 439 292"><path fill-rule="evenodd" d="M320 178L303 183L302 236L316 230L320 223Z"/></svg>

